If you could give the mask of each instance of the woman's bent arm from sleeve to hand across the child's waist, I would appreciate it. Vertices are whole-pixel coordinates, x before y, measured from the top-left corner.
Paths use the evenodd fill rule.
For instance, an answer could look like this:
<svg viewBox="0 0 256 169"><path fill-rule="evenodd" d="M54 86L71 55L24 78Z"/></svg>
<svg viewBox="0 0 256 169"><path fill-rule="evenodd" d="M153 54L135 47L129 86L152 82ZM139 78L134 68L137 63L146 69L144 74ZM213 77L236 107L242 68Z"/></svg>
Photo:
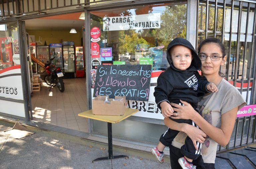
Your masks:
<svg viewBox="0 0 256 169"><path fill-rule="evenodd" d="M184 101L182 101L182 103L185 106L171 103L172 106L177 107L177 109L173 108L174 111L178 112L178 116L172 117L173 119L191 119L201 130L221 146L226 146L228 144L236 121L238 107L223 114L221 116L221 127L217 128L200 116L190 104Z"/></svg>

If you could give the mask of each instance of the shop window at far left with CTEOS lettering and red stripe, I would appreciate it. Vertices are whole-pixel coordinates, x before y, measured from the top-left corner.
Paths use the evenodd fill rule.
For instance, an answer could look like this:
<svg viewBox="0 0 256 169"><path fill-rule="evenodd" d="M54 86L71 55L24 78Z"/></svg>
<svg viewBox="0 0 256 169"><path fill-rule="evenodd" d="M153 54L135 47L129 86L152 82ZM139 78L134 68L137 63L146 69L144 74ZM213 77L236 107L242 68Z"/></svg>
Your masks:
<svg viewBox="0 0 256 169"><path fill-rule="evenodd" d="M16 23L0 25L0 43L0 113L25 117Z"/></svg>

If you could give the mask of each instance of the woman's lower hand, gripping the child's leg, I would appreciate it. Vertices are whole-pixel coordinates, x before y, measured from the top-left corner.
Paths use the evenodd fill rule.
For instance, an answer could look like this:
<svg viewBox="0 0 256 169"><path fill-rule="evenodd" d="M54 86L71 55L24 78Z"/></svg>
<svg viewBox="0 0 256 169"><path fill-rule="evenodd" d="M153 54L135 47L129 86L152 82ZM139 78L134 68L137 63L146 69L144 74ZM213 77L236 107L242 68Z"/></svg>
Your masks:
<svg viewBox="0 0 256 169"><path fill-rule="evenodd" d="M189 136L189 138L191 138L196 150L198 150L196 141L203 144L205 137L207 136L201 129L189 124L185 126L184 132Z"/></svg>

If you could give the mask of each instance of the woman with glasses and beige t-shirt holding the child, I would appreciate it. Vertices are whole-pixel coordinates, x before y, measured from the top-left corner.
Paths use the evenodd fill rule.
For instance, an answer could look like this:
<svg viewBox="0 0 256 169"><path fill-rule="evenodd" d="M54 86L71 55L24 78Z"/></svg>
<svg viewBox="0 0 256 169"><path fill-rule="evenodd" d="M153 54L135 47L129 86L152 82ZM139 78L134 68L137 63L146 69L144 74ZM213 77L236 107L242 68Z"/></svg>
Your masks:
<svg viewBox="0 0 256 169"><path fill-rule="evenodd" d="M198 53L202 61L202 75L209 82L215 83L219 91L202 98L198 103L199 113L185 101L181 101L185 106L171 103L173 107L176 107L174 111L178 112L177 116L176 113L173 114L176 116L172 116L173 119L190 119L200 128L176 123L169 118L164 119L167 127L183 131L179 132L170 146L171 167L175 169L181 168L178 159L183 156L180 147L184 144L186 136L192 139L195 148L197 148L196 141L203 143L202 156L194 160L193 165L197 166L197 169L214 168L217 145L226 146L228 144L237 111L246 104L239 91L219 75L220 66L226 63L223 43L218 39L208 38L200 44Z"/></svg>

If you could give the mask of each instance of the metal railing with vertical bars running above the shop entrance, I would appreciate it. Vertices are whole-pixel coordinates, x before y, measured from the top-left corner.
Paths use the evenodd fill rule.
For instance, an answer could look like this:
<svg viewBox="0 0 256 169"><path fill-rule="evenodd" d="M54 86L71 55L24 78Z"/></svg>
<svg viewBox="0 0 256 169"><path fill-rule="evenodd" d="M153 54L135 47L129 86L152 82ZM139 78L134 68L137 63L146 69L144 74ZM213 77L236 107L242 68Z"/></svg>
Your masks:
<svg viewBox="0 0 256 169"><path fill-rule="evenodd" d="M90 7L140 0L0 0L0 19L36 15L65 7Z"/></svg>

